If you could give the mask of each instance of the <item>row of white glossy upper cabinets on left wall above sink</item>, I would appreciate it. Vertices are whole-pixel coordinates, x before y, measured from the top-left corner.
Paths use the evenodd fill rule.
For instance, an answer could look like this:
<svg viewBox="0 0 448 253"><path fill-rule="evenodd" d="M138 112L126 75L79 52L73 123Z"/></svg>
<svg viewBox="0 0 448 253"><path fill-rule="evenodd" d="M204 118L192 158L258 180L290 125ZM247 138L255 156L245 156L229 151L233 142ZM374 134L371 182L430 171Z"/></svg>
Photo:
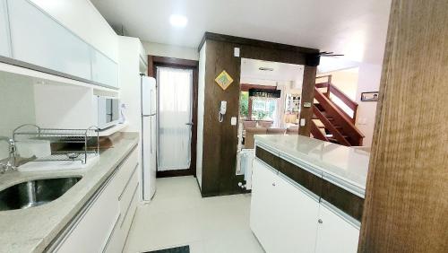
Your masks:
<svg viewBox="0 0 448 253"><path fill-rule="evenodd" d="M65 4L66 8L69 5ZM75 11L76 18L82 19L81 9ZM59 13L58 17L65 16ZM92 27L99 30L98 25ZM118 88L114 60L28 0L0 0L0 56L19 60L19 65L40 72Z"/></svg>

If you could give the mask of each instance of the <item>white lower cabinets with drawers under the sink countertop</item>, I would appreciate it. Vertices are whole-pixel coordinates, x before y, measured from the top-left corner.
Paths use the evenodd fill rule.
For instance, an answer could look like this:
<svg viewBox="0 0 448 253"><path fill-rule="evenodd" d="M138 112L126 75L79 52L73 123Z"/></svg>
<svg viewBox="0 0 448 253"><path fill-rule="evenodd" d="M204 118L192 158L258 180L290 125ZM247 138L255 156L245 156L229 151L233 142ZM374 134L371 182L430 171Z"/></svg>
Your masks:
<svg viewBox="0 0 448 253"><path fill-rule="evenodd" d="M137 206L137 158L128 155L49 251L122 252Z"/></svg>

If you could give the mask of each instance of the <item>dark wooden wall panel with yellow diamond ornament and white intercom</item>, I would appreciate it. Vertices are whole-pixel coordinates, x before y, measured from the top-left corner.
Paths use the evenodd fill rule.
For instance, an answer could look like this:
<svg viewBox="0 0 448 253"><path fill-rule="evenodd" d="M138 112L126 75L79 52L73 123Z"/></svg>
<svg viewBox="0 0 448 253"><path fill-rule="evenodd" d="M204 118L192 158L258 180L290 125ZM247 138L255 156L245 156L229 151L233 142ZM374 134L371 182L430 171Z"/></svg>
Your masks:
<svg viewBox="0 0 448 253"><path fill-rule="evenodd" d="M237 126L230 126L230 118L238 117L241 57L305 65L308 52L316 53L311 48L297 48L286 45L260 42L248 45L247 39L214 35L207 41L205 62L205 91L203 119L203 154L202 154L202 196L219 196L245 192L237 186L244 176L236 176L237 169ZM223 39L224 38L224 39ZM271 45L272 46L272 45ZM234 57L234 48L240 48L240 57ZM292 50L292 49L295 50ZM302 52L301 50L305 50ZM309 68L306 68L310 70ZM223 91L214 79L223 70L234 79L226 91ZM306 76L315 78L315 67L306 71ZM309 83L309 82L308 82ZM313 96L313 90L311 95ZM227 113L224 121L218 121L220 101L226 100ZM309 135L309 134L308 134Z"/></svg>

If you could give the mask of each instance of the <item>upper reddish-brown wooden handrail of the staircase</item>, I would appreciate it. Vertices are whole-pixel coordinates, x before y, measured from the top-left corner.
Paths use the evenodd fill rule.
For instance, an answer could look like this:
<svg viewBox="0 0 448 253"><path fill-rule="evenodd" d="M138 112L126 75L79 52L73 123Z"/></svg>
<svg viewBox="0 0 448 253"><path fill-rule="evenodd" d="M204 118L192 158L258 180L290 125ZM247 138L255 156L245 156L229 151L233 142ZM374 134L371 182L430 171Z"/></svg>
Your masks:
<svg viewBox="0 0 448 253"><path fill-rule="evenodd" d="M326 83L315 83L315 87L316 88L326 88L326 92L323 92L323 94L331 100L331 95L336 96L338 99L340 99L347 107L349 107L349 109L353 110L353 115L350 116L345 110L341 109L340 106L338 106L337 104L335 104L335 106L340 109L340 111L342 111L344 114L347 115L347 117L350 118L351 122L353 122L353 124L355 124L356 120L357 120L357 110L358 110L358 103L354 100L351 100L349 98L349 96L347 96L344 92L340 91L340 89L338 87L336 87L335 85L332 85L332 75L323 75L323 76L319 76L316 79L321 79L321 78L327 78L327 82Z"/></svg>

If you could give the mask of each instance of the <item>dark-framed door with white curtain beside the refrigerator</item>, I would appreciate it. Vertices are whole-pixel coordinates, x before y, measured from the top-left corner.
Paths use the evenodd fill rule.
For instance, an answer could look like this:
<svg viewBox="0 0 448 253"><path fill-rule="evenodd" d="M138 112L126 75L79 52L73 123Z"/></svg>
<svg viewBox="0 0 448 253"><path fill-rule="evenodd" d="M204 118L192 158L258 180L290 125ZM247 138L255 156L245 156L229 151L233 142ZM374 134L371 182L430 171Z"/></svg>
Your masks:
<svg viewBox="0 0 448 253"><path fill-rule="evenodd" d="M157 178L195 175L197 61L150 57L157 80Z"/></svg>

